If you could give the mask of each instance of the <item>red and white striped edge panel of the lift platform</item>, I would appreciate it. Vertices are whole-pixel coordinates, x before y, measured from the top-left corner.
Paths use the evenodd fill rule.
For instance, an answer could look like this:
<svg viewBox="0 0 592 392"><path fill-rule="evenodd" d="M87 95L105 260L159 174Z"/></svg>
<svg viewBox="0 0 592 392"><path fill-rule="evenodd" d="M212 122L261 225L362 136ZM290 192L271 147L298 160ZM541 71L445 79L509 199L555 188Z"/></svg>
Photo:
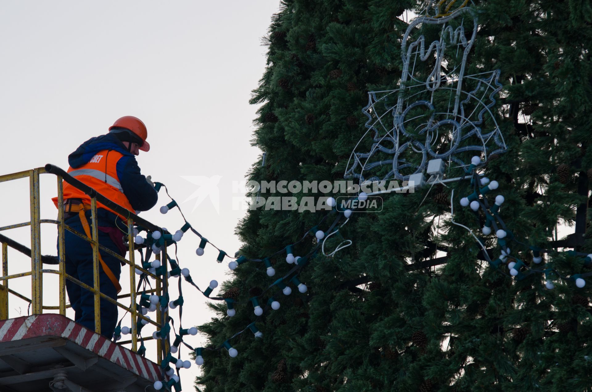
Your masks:
<svg viewBox="0 0 592 392"><path fill-rule="evenodd" d="M38 314L0 321L0 342L60 336L150 381L160 380L160 367L104 336L60 314Z"/></svg>

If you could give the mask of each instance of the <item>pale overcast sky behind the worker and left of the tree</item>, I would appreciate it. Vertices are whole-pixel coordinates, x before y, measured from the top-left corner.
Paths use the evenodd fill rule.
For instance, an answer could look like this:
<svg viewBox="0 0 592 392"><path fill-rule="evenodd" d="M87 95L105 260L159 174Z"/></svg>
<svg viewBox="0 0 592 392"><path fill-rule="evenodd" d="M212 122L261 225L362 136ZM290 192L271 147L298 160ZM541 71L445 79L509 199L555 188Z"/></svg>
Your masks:
<svg viewBox="0 0 592 392"><path fill-rule="evenodd" d="M2 2L0 174L46 163L67 169L67 156L79 144L106 133L118 117L135 115L146 124L152 146L140 154L140 168L165 183L176 200L198 189L186 176L221 176L219 214L210 200L193 212L194 200L181 207L201 234L233 254L240 246L234 227L244 213L231 208L232 182L243 181L260 154L249 143L256 107L248 101L265 68L260 38L278 6L278 0ZM41 218L55 219L50 201L56 195L55 177L43 175L41 187ZM142 216L174 232L183 223L178 211L166 216L158 211L168 201L161 192L156 207ZM0 184L0 205L0 226L27 221L28 182ZM3 234L30 244L27 228ZM47 224L43 253L55 255L55 242L56 229ZM200 287L211 279L222 282L227 263L215 261L214 248L198 258L197 246L196 236L184 237L181 266L192 271ZM30 270L28 259L16 252L9 251L9 263L11 274ZM120 281L126 277L122 274ZM44 303L50 305L57 304L52 278L44 284ZM21 278L11 287L30 295L29 282ZM192 291L189 285L184 290ZM14 298L10 316L27 314ZM185 298L184 327L214 316L201 294ZM193 346L203 342L200 336L188 339ZM154 356L150 347L148 356ZM192 390L197 370L193 364L181 373L184 390Z"/></svg>

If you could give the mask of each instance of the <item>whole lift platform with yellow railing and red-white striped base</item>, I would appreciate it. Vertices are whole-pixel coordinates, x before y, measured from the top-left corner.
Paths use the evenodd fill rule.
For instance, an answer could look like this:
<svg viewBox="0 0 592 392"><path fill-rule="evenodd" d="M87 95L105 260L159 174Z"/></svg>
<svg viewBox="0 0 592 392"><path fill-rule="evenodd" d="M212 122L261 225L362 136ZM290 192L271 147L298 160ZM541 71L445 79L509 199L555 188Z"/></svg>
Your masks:
<svg viewBox="0 0 592 392"><path fill-rule="evenodd" d="M39 176L50 173L57 177L57 220L41 219L40 217L40 181ZM98 194L82 182L68 175L56 166L46 165L45 168L32 169L30 171L0 175L0 183L22 178L29 179L30 190L30 221L8 226L0 226L0 232L15 229L17 227L30 226L31 248L0 234L0 255L2 275L0 276L0 391L14 392L150 392L154 391L153 384L156 381L170 381L170 377L162 374L160 363L163 354L168 352L168 339L156 340L156 355L150 356L153 361L144 358L146 348L143 342L153 340L152 336L141 337L141 329L144 325L152 324L159 331L161 322L168 317L166 310L156 310L155 320L144 316L138 305L141 297L149 294L163 295L168 289L166 263L163 266L163 277L152 274L145 269L145 265L136 264L134 253L141 245L134 244L134 224L141 225L147 230L162 230L155 224L141 219L136 214L131 214L118 204ZM97 225L92 225L92 233L86 236L69 227L64 221L63 214L63 184L69 182L91 198L91 221L96 221L98 203L112 208L113 211L128 216L127 243L128 258L123 258L98 242ZM41 255L41 230L42 223L57 225L57 256ZM66 274L65 260L60 256L65 249L65 232L69 231L89 242L93 261L93 284L85 284L75 277ZM31 271L9 274L8 248L28 256L31 259ZM109 253L127 265L130 271L129 291L111 298L99 290L99 249ZM162 255L166 257L166 244ZM159 258L157 258L159 259ZM14 263L13 263L14 264ZM44 268L44 264L54 265L54 268ZM23 265L20 262L20 265ZM55 268L57 267L57 268ZM137 291L136 272L140 271L147 277L155 280L155 288ZM46 304L43 301L43 277L46 274L56 274L59 277L56 295L47 296L57 300L57 304ZM31 295L28 298L24 293L9 288L9 281L30 277ZM66 317L66 309L70 304L66 303L65 282L70 281L84 290L92 293L94 298L94 322L95 330L89 330ZM26 287L22 284L18 287ZM55 289L54 288L54 289ZM47 288L46 288L47 290ZM30 316L9 318L9 296L15 295L29 303ZM110 301L128 315L130 325L130 340L116 343L100 335L101 312L100 300ZM126 304L123 302L126 301ZM129 305L128 305L128 304ZM44 313L52 311L52 313ZM55 313L57 311L57 313ZM125 317L125 316L124 316ZM160 321L160 322L159 322ZM140 347L138 346L140 340ZM123 345L130 345L126 348ZM170 369L170 367L169 367ZM175 376L176 377L176 376ZM174 377L173 377L174 378ZM175 389L180 390L176 381ZM164 390L170 390L171 385L166 385Z"/></svg>

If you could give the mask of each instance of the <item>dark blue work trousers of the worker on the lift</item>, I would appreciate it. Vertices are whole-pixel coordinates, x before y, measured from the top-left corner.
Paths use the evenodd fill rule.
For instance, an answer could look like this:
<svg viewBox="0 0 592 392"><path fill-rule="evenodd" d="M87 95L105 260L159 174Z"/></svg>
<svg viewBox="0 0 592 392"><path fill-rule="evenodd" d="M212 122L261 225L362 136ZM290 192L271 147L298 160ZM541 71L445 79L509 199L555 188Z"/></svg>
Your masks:
<svg viewBox="0 0 592 392"><path fill-rule="evenodd" d="M89 222L92 233L92 220L91 211L86 211L86 219ZM65 223L72 227L79 233L84 234L81 220L78 216L73 216L66 220ZM103 226L99 220L99 227ZM123 233L122 233L123 234ZM76 234L65 230L65 265L66 274L78 279L79 281L94 287L94 274L92 267L92 246L89 242L83 240ZM105 248L108 248L120 255L120 250L117 245L113 242L108 233L101 232L99 230L99 243ZM101 250L101 256L105 264L111 269L111 272L115 275L115 278L119 280L121 274L120 261L109 255L104 250ZM101 293L108 295L108 297L117 300L117 289L111 282L107 274L103 271L100 261L99 263L99 285ZM95 330L95 304L94 296L91 291L82 288L75 282L66 279L66 291L72 309L75 311L75 321L82 324L86 328L94 331ZM101 335L107 339L112 339L113 332L115 330L115 324L117 324L117 306L110 303L109 301L101 298Z"/></svg>

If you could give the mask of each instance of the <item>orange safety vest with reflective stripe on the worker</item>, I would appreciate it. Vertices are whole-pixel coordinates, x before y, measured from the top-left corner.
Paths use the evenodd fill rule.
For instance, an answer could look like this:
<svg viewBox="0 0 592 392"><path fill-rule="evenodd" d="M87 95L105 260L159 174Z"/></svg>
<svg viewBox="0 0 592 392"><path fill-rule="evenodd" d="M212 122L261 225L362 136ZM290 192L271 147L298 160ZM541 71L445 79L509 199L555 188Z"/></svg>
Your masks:
<svg viewBox="0 0 592 392"><path fill-rule="evenodd" d="M131 207L130 201L127 200L126 195L123 193L123 188L121 188L119 177L117 176L117 162L121 157L123 157L123 154L115 150L101 150L91 160L85 163L85 165L76 169L69 167L68 173L78 179L78 181L95 189L95 191L109 200L121 205L121 207L126 208L131 213L135 213L136 211ZM83 204L91 204L91 197L89 195L68 184L66 181L63 181L63 193L64 201L75 198L82 199ZM57 197L52 198L52 200L57 207ZM116 213L98 201L96 206L117 214L121 219L125 220L128 218L127 216Z"/></svg>

